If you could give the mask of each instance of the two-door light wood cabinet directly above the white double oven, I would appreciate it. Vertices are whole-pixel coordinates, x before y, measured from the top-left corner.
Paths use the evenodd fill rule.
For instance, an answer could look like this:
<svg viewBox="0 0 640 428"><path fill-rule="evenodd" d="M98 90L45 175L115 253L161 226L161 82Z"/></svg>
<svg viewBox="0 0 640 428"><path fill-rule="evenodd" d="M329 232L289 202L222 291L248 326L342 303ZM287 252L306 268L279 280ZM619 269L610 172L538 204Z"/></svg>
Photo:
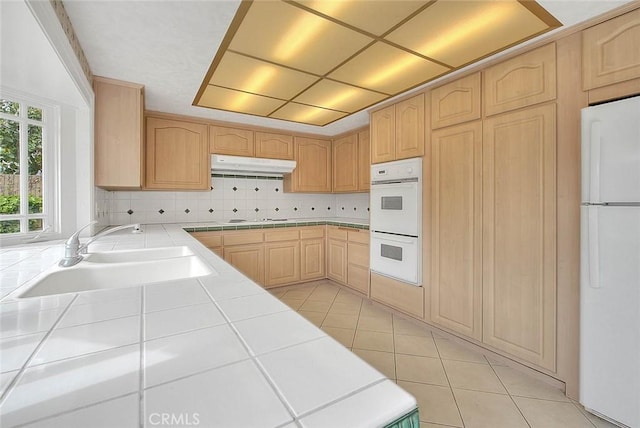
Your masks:
<svg viewBox="0 0 640 428"><path fill-rule="evenodd" d="M424 94L371 113L371 163L424 155Z"/></svg>

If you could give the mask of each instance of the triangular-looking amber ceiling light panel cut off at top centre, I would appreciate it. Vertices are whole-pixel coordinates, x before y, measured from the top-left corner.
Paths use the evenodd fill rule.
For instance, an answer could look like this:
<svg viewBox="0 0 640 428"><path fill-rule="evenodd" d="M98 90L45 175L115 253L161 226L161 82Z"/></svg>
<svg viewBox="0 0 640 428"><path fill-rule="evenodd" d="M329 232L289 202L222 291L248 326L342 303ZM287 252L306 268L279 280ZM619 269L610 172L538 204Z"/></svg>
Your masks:
<svg viewBox="0 0 640 428"><path fill-rule="evenodd" d="M428 1L297 0L296 3L381 36Z"/></svg>

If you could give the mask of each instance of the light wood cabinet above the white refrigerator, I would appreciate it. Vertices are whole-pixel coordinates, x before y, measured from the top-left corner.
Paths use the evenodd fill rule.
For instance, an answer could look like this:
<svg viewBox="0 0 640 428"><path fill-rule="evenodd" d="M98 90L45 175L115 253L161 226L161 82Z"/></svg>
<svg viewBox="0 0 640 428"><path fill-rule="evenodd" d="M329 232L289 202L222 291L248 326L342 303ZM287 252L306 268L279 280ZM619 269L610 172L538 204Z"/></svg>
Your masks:
<svg viewBox="0 0 640 428"><path fill-rule="evenodd" d="M582 32L582 86L589 90L640 78L640 9Z"/></svg>

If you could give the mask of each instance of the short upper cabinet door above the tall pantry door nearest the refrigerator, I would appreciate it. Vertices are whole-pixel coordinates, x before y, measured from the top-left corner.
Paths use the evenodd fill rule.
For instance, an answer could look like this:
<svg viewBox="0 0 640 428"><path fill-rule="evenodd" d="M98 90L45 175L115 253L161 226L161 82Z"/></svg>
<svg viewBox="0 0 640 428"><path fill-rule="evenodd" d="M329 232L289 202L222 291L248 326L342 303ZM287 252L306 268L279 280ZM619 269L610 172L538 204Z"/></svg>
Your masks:
<svg viewBox="0 0 640 428"><path fill-rule="evenodd" d="M484 114L491 116L556 98L556 44L483 71Z"/></svg>

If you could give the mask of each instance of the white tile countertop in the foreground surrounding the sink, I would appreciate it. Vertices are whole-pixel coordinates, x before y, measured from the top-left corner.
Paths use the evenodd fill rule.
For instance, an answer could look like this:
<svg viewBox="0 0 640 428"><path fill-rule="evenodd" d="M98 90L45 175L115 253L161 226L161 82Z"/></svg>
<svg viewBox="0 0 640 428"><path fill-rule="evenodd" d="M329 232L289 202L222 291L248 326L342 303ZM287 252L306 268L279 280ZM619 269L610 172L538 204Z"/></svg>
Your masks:
<svg viewBox="0 0 640 428"><path fill-rule="evenodd" d="M374 427L415 411L180 225L114 233L90 251L173 245L218 275L0 301L0 426ZM60 241L0 249L0 293L62 253Z"/></svg>

